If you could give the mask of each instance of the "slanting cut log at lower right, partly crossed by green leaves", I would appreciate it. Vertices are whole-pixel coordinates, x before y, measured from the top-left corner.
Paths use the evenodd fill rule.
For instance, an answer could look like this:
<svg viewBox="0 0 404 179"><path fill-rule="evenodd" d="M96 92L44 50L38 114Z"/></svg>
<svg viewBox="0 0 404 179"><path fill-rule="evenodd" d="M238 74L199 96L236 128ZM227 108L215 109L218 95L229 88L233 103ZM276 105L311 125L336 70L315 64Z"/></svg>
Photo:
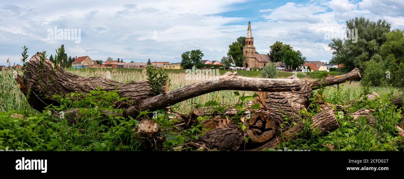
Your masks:
<svg viewBox="0 0 404 179"><path fill-rule="evenodd" d="M337 121L337 118L335 118L334 113L332 110L327 109L325 111L322 111L313 117L311 117L311 121L313 122L311 124L311 127L313 127L314 130L318 130L320 134L327 134L328 132L332 132L334 130L337 130L339 128L339 124ZM267 142L266 144L252 149L252 150L263 150L266 148L276 148L276 146L283 141L287 140L294 140L296 138L296 134L300 133L303 131L304 123L300 121L297 123L295 126L292 128L288 129L286 132L283 133L282 136L277 136L271 141Z"/></svg>

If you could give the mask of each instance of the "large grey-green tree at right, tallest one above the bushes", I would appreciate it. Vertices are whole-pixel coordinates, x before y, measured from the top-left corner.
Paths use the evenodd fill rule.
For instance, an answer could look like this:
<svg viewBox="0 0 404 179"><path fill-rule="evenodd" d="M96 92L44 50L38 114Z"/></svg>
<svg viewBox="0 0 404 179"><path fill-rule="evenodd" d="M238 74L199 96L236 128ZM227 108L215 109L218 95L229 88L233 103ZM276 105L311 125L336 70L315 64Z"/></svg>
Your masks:
<svg viewBox="0 0 404 179"><path fill-rule="evenodd" d="M365 62L378 55L379 47L386 41L383 34L388 33L390 27L387 21L381 19L375 22L364 17L356 17L346 21L347 30L358 29L358 33L352 35L357 39L333 39L328 44L332 51L330 63L344 64L345 71L358 67L363 72L366 68Z"/></svg>

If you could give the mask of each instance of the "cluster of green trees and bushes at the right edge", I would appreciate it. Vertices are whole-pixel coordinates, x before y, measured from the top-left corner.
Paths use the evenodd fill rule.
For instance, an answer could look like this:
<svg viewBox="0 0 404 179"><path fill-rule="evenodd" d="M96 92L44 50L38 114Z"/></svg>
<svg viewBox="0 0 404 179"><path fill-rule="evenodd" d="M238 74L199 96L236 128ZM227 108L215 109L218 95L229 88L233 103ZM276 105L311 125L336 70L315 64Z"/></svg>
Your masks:
<svg viewBox="0 0 404 179"><path fill-rule="evenodd" d="M404 31L391 30L383 19L370 21L356 17L346 21L346 29L358 29L357 42L351 39L333 39L332 64L343 64L343 71L355 67L363 74L367 86L404 86Z"/></svg>

